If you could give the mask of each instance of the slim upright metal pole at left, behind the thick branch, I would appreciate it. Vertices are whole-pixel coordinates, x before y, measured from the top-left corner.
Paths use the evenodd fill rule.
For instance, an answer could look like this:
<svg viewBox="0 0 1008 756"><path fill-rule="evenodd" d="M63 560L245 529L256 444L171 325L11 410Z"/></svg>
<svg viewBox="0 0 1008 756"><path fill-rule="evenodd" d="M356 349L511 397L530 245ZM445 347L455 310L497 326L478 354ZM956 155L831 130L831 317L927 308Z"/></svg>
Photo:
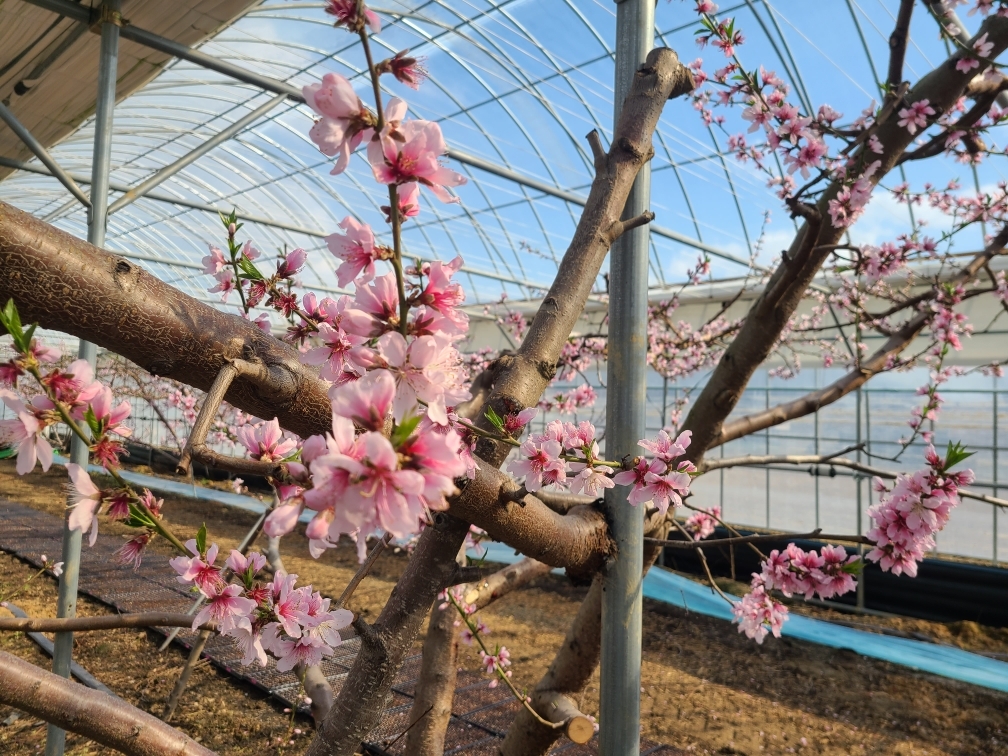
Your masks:
<svg viewBox="0 0 1008 756"><path fill-rule="evenodd" d="M105 242L106 209L109 203L109 163L112 156L112 111L116 104L116 74L119 66L119 27L109 11L116 13L122 0L105 0L102 9L102 46L98 64L98 97L95 102L95 149L91 162L91 207L88 208L88 241L96 247ZM81 340L78 356L95 364L97 348ZM80 438L71 439L71 462L86 467L88 447ZM81 572L80 530L71 530L64 522L62 561L64 573L59 578L56 599L56 617L74 617L77 614L77 584ZM74 653L74 634L56 633L52 654L52 671L70 676L71 657ZM62 756L67 733L53 725L45 735L45 756Z"/></svg>

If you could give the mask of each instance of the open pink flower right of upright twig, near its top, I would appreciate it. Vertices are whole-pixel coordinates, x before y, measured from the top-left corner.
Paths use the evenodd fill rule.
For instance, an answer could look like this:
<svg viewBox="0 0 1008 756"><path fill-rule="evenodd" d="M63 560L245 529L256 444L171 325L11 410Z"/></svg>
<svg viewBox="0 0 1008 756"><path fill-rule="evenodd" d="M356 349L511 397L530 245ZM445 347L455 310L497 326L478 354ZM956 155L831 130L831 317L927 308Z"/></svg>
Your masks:
<svg viewBox="0 0 1008 756"><path fill-rule="evenodd" d="M457 203L447 186L459 186L466 177L438 163L448 151L440 126L430 121L405 121L393 138L383 134L368 143L368 160L380 183L418 181L443 203ZM401 141L400 137L401 136Z"/></svg>

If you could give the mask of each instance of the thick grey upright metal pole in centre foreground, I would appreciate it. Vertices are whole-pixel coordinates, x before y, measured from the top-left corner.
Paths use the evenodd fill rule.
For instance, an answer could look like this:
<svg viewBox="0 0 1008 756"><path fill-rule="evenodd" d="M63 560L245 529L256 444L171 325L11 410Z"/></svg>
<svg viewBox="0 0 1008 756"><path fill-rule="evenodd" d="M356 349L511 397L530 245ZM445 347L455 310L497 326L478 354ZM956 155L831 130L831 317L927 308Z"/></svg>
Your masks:
<svg viewBox="0 0 1008 756"><path fill-rule="evenodd" d="M613 122L619 121L634 73L654 46L654 0L616 6ZM634 181L623 218L649 209L651 166ZM641 226L613 244L609 257L609 360L606 367L606 456L638 452L647 396L647 274L650 232ZM641 584L644 517L627 502L629 487L606 491L617 557L602 579L602 661L599 737L602 756L640 753Z"/></svg>

